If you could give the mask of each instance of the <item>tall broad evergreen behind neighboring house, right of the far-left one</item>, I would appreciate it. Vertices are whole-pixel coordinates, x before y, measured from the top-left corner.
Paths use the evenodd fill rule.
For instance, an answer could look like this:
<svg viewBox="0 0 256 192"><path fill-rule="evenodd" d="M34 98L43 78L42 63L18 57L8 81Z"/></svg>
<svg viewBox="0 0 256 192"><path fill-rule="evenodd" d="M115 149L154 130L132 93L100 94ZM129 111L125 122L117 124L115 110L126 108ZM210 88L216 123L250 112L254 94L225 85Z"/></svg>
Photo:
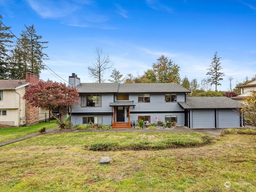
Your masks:
<svg viewBox="0 0 256 192"><path fill-rule="evenodd" d="M36 34L34 25L26 26L26 30L22 30L21 38L17 41L14 50L12 50L12 75L18 75L20 78L25 78L28 71L34 74L40 74L44 70L43 60L46 60L48 55L43 52L48 42L41 42L42 36Z"/></svg>

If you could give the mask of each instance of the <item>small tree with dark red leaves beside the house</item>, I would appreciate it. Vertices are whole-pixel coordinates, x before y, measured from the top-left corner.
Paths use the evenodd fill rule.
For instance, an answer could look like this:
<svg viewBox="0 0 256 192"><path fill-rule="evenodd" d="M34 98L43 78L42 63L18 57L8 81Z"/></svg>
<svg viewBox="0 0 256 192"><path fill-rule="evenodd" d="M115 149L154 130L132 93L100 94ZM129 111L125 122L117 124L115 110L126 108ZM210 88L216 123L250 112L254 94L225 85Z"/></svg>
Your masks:
<svg viewBox="0 0 256 192"><path fill-rule="evenodd" d="M30 84L26 90L23 99L34 107L47 108L53 112L55 108L59 109L60 117L53 114L57 119L60 128L64 128L64 111L70 107L70 116L74 104L79 104L79 93L76 88L66 86L66 84L58 82L39 82L38 84Z"/></svg>

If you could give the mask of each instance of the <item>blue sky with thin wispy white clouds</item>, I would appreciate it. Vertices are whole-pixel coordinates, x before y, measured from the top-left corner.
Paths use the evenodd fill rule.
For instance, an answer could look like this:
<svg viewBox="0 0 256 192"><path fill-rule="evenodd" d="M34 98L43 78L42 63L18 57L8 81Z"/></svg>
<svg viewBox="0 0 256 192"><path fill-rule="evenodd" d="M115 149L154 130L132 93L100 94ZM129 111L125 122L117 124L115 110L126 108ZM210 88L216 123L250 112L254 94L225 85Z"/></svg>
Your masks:
<svg viewBox="0 0 256 192"><path fill-rule="evenodd" d="M218 90L229 89L230 76L234 88L256 74L255 0L0 0L0 14L18 37L34 24L49 42L44 63L66 81L74 72L93 82L87 67L97 46L124 76L143 75L163 54L181 78L200 83L215 52L225 74ZM40 78L65 82L50 70Z"/></svg>

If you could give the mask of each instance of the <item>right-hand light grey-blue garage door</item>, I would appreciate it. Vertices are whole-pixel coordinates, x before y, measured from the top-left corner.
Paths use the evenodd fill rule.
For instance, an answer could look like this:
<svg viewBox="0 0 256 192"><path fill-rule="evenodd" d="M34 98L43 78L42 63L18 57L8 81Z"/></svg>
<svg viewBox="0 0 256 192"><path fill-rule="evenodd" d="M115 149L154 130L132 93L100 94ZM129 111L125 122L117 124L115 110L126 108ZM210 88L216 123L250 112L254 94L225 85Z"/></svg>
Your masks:
<svg viewBox="0 0 256 192"><path fill-rule="evenodd" d="M240 127L240 116L233 110L218 110L218 128Z"/></svg>

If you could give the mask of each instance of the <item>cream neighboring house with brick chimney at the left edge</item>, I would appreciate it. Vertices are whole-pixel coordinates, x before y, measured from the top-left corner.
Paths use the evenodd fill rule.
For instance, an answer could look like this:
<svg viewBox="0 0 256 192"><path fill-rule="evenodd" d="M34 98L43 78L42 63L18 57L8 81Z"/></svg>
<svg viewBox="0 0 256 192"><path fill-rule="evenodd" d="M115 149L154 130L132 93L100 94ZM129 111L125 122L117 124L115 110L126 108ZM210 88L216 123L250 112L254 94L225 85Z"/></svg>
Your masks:
<svg viewBox="0 0 256 192"><path fill-rule="evenodd" d="M26 104L22 99L30 83L39 82L39 76L26 73L26 80L0 80L0 124L24 126L45 120L49 111Z"/></svg>

